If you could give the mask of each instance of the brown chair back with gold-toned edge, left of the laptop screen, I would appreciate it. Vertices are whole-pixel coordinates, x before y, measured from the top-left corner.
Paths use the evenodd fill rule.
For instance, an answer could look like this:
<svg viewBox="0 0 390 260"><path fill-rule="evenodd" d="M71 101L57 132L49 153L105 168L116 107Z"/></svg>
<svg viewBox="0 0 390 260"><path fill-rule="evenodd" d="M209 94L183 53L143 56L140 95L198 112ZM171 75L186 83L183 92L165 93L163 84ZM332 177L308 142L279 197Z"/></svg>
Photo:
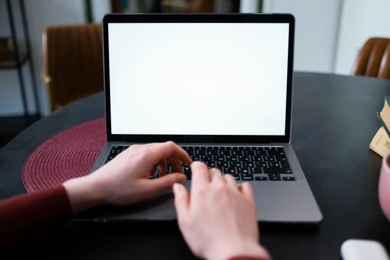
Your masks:
<svg viewBox="0 0 390 260"><path fill-rule="evenodd" d="M43 79L50 111L103 91L102 25L47 27Z"/></svg>

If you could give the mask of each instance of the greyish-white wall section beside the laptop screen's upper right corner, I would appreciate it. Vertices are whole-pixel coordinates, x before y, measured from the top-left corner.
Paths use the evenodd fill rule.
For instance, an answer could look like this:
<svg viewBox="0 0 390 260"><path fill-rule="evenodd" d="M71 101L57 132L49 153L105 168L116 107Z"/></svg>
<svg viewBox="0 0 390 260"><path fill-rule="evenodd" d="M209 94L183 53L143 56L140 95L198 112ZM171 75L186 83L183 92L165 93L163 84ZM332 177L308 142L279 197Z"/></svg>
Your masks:
<svg viewBox="0 0 390 260"><path fill-rule="evenodd" d="M263 12L295 16L294 69L331 73L342 0L264 0Z"/></svg>

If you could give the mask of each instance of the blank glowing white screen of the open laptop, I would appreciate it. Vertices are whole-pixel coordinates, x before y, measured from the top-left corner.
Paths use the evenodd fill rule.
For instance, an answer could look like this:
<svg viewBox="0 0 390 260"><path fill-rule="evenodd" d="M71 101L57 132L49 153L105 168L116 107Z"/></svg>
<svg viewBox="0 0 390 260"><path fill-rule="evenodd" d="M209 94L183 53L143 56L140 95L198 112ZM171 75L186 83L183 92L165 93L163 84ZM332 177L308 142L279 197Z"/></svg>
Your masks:
<svg viewBox="0 0 390 260"><path fill-rule="evenodd" d="M112 134L284 135L287 23L109 23Z"/></svg>

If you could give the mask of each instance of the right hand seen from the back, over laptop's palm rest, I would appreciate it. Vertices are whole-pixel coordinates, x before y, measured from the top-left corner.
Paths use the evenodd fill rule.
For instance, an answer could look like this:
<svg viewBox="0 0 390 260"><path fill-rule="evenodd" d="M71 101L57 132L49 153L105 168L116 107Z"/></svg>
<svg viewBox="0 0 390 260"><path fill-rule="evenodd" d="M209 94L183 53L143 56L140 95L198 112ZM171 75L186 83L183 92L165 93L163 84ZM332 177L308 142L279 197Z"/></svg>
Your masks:
<svg viewBox="0 0 390 260"><path fill-rule="evenodd" d="M228 260L236 256L269 259L259 245L259 230L252 186L237 185L230 174L208 169L201 162L191 164L191 194L174 184L177 221L195 256L207 260Z"/></svg>

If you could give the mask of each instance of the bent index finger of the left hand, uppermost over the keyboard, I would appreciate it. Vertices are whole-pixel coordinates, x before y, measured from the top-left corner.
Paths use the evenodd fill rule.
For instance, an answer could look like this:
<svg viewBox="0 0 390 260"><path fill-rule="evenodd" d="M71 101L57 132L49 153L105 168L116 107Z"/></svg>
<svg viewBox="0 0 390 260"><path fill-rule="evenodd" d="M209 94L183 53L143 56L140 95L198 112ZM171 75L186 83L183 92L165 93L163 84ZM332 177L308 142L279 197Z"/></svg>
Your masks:
<svg viewBox="0 0 390 260"><path fill-rule="evenodd" d="M176 145L172 141L158 143L156 145L146 147L149 158L154 162L161 158L167 158L170 156L177 157L180 161L190 164L192 162L190 156L185 150Z"/></svg>

